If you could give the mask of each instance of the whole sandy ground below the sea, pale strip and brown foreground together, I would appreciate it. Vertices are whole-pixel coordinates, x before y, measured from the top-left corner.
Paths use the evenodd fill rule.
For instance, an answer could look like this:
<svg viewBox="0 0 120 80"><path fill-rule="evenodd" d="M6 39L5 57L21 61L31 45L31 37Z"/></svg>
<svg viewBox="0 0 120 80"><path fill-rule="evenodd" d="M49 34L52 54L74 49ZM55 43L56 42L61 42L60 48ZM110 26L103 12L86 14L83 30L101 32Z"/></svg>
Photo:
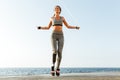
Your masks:
<svg viewBox="0 0 120 80"><path fill-rule="evenodd" d="M50 75L38 76L8 76L0 77L0 80L120 80L119 73L87 73L87 74L63 74L59 77Z"/></svg>

